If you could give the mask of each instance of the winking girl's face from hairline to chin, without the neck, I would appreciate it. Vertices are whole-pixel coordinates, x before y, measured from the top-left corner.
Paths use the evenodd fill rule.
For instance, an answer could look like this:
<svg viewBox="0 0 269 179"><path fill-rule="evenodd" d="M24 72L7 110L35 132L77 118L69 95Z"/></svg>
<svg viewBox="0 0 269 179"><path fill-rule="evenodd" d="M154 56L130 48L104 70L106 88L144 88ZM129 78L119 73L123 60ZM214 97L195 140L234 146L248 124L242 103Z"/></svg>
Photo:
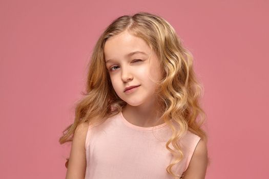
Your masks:
<svg viewBox="0 0 269 179"><path fill-rule="evenodd" d="M110 37L104 51L116 94L132 106L154 104L156 84L152 80L161 79L161 70L156 54L146 41L125 31ZM137 85L125 91L126 87Z"/></svg>

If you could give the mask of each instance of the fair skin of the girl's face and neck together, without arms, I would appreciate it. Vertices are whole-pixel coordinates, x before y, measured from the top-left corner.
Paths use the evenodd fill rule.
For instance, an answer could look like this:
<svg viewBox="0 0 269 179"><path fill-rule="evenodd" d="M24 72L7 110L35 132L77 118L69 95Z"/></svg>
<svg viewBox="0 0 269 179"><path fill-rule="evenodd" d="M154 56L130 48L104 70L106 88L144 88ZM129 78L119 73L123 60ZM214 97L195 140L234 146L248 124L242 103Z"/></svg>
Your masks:
<svg viewBox="0 0 269 179"><path fill-rule="evenodd" d="M135 51L145 54L128 56ZM155 52L146 41L127 31L110 37L105 44L105 60L115 92L127 102L127 106L122 109L126 120L141 127L163 123L157 121L159 114L155 95L155 81L161 80L161 69ZM131 94L123 92L132 85L140 86Z"/></svg>

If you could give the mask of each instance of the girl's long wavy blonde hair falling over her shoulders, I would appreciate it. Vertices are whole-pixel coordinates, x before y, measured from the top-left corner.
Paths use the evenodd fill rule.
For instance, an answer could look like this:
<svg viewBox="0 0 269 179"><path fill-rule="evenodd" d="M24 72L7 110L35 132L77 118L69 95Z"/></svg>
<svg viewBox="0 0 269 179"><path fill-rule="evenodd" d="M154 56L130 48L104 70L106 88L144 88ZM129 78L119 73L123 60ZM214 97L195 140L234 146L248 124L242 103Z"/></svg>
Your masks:
<svg viewBox="0 0 269 179"><path fill-rule="evenodd" d="M183 47L174 28L162 17L148 12L120 16L101 34L88 64L86 93L82 92L84 97L75 104L74 123L63 131L59 143L71 142L78 124L101 124L127 105L113 89L104 55L106 40L123 31L146 41L162 66L163 79L156 88L161 106L159 111L162 115L159 120L163 120L172 129L172 136L165 147L174 157L166 170L178 178L180 176L172 171L172 167L184 157L178 141L187 130L205 142L208 141L205 131L201 128L206 118L200 106L203 88L194 73L193 56ZM175 125L179 126L180 130ZM169 146L171 143L173 148ZM68 161L69 159L66 167Z"/></svg>

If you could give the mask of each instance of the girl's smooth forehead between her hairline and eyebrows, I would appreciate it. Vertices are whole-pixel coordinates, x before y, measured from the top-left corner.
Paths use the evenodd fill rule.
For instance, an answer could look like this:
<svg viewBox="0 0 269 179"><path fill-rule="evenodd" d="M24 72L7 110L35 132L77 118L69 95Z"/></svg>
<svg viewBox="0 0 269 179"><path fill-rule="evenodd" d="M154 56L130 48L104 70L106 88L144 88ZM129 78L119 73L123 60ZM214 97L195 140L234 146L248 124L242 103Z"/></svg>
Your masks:
<svg viewBox="0 0 269 179"><path fill-rule="evenodd" d="M136 37L127 31L110 37L106 41L104 48L106 61L118 58L123 59L134 54L144 55L143 53L138 52L150 54L151 48L142 38Z"/></svg>

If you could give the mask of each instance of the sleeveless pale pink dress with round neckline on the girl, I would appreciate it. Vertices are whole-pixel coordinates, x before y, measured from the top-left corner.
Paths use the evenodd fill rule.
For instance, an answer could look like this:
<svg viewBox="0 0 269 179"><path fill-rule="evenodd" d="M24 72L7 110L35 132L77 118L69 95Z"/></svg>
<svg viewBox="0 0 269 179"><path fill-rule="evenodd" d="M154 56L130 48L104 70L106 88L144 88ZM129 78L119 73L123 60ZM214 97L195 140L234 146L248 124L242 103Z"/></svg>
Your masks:
<svg viewBox="0 0 269 179"><path fill-rule="evenodd" d="M172 154L165 148L172 130L166 124L140 127L120 112L98 126L89 125L86 137L86 179L173 178L166 171ZM173 167L181 175L189 166L200 137L188 131L180 140L183 160ZM172 144L170 147L173 148Z"/></svg>

